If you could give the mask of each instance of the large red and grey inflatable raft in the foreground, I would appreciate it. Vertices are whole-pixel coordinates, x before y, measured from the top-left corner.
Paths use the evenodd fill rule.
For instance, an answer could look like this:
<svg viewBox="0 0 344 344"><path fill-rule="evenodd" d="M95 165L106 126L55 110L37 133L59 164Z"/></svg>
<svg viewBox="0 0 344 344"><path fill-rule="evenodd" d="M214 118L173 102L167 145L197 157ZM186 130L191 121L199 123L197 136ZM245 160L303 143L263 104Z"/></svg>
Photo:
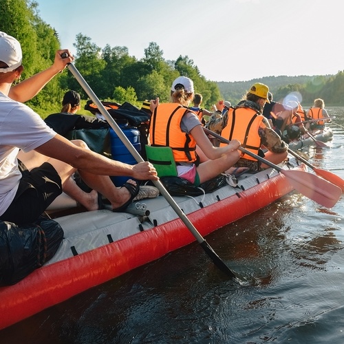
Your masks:
<svg viewBox="0 0 344 344"><path fill-rule="evenodd" d="M293 158L282 169L305 171ZM264 208L293 190L274 169L239 177L197 197L173 197L201 235ZM54 218L65 233L56 255L13 286L0 288L0 328L8 327L89 288L195 241L162 195L133 204L144 215L110 210ZM228 211L230 209L230 211Z"/></svg>

